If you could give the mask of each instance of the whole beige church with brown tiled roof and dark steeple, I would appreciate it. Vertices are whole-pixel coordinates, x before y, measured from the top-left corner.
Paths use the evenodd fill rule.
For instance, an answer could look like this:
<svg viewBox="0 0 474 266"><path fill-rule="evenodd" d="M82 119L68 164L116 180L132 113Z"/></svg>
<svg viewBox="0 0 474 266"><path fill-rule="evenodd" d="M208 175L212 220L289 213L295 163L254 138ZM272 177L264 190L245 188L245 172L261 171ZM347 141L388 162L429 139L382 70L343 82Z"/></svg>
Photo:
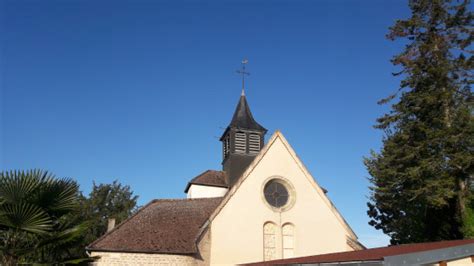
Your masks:
<svg viewBox="0 0 474 266"><path fill-rule="evenodd" d="M244 69L245 70L245 69ZM222 170L156 199L87 247L95 265L234 265L364 247L280 131L253 117L244 88L224 130Z"/></svg>

